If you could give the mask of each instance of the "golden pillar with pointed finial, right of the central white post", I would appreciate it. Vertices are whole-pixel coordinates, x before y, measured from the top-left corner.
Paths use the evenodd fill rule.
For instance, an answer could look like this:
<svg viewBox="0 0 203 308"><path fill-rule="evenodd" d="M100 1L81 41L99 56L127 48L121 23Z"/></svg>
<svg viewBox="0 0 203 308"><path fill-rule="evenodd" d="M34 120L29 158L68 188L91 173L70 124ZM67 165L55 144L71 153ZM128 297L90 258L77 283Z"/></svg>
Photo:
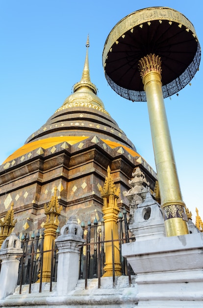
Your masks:
<svg viewBox="0 0 203 308"><path fill-rule="evenodd" d="M104 267L104 277L113 276L113 262L112 262L112 237L113 240L118 240L118 214L119 208L117 205L117 199L119 198L119 187L116 189L114 182L111 178L111 169L107 168L107 177L103 188L100 187L101 197L103 198L103 219L104 219L104 229L105 229L105 267ZM114 268L115 276L122 275L121 263L120 263L120 251L119 242L113 242L113 253L114 253Z"/></svg>

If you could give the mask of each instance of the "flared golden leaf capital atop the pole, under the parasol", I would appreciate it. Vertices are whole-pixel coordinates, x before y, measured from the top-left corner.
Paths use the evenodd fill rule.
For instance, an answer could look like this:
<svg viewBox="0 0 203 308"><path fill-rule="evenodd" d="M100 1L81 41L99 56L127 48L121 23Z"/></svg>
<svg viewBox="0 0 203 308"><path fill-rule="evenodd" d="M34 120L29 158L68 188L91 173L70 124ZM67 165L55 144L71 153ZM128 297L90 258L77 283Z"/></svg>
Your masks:
<svg viewBox="0 0 203 308"><path fill-rule="evenodd" d="M144 58L141 58L138 63L138 69L140 71L140 76L143 78L147 73L152 71L158 72L161 74L161 58L156 55L147 55Z"/></svg>

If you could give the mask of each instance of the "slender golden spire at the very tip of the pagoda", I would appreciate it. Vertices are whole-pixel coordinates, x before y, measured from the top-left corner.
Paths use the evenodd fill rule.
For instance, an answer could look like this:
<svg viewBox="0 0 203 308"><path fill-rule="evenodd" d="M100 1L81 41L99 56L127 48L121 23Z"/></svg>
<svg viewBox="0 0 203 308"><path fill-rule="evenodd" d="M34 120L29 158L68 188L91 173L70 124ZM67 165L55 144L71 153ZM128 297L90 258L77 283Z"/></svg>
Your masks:
<svg viewBox="0 0 203 308"><path fill-rule="evenodd" d="M84 62L84 68L82 71L82 77L81 77L81 80L74 85L74 92L78 91L81 88L82 90L84 90L84 88L88 88L88 90L91 89L93 93L97 94L97 87L90 80L89 56L88 56L89 47L90 47L90 43L89 43L89 34L88 34L87 41L86 41L86 57L85 57L85 62Z"/></svg>

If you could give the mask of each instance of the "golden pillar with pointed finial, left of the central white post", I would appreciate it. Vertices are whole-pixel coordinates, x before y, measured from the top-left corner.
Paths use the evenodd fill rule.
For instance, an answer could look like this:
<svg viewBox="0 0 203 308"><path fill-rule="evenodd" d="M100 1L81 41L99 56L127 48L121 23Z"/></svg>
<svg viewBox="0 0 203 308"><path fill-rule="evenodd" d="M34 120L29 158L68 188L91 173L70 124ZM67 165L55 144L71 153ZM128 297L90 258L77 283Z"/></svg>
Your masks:
<svg viewBox="0 0 203 308"><path fill-rule="evenodd" d="M47 216L44 228L44 257L42 269L42 282L50 282L51 279L51 249L56 238L56 229L58 228L58 216L62 210L59 208L58 198L56 197L57 187L54 188L54 195L48 205L45 204L45 215ZM46 252L47 250L50 250ZM38 279L39 282L39 279Z"/></svg>

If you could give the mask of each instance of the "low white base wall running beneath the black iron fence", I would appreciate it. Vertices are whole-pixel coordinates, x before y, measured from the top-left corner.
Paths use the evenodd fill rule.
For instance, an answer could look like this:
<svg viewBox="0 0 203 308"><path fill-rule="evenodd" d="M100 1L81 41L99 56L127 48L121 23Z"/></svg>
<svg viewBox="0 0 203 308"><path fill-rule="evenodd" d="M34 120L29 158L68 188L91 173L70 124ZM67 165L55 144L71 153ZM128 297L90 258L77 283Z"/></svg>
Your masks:
<svg viewBox="0 0 203 308"><path fill-rule="evenodd" d="M52 292L50 292L50 283L42 283L42 292L39 293L39 283L31 286L23 285L21 294L20 286L17 286L13 295L0 301L0 307L10 308L135 308L138 305L136 298L137 284L135 276L131 277L131 285L127 276L115 278L113 286L112 277L101 277L101 286L98 288L98 278L88 279L85 289L85 280L79 279L74 290L68 294L58 296L56 293L57 282L52 283Z"/></svg>

